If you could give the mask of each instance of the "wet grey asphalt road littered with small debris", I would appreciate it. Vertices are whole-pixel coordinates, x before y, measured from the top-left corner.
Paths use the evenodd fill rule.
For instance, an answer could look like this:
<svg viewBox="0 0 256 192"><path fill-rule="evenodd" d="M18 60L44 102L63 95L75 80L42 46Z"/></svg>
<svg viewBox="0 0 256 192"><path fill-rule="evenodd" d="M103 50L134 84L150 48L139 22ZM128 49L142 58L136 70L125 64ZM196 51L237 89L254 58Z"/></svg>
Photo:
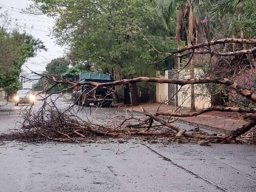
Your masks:
<svg viewBox="0 0 256 192"><path fill-rule="evenodd" d="M111 114L86 110L99 121ZM20 106L2 107L0 132L19 114ZM0 178L0 192L254 192L256 146L0 142Z"/></svg>

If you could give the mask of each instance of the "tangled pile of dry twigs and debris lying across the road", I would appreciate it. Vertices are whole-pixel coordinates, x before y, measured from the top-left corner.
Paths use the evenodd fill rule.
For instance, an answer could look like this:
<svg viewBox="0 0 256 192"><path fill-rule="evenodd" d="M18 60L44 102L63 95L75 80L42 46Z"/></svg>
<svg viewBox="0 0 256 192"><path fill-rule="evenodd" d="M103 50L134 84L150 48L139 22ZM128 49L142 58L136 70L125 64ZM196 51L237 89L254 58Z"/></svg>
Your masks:
<svg viewBox="0 0 256 192"><path fill-rule="evenodd" d="M45 101L39 110L31 107L24 110L20 126L12 134L0 136L0 140L79 142L99 138L118 138L146 142L196 143L202 140L218 143L237 142L232 139L224 140L216 134L206 132L183 131L184 135L178 135L177 130L168 127L168 124L165 126L157 119L150 123L152 121L148 117L138 118L132 115L125 117L116 114L113 123L100 124L93 120L84 120L78 117L75 111L61 107L54 101L48 103Z"/></svg>

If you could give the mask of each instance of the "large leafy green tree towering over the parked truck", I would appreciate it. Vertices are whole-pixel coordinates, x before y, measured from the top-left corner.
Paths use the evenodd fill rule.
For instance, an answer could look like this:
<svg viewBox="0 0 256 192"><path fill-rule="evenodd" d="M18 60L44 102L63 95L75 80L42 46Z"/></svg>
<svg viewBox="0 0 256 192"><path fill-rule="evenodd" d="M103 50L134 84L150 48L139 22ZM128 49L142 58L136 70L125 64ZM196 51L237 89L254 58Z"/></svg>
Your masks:
<svg viewBox="0 0 256 192"><path fill-rule="evenodd" d="M58 44L70 45L72 64L90 64L113 80L154 77L162 64L150 65L161 58L152 45L176 50L175 28L164 30L154 0L33 1L33 10L56 19L54 35Z"/></svg>

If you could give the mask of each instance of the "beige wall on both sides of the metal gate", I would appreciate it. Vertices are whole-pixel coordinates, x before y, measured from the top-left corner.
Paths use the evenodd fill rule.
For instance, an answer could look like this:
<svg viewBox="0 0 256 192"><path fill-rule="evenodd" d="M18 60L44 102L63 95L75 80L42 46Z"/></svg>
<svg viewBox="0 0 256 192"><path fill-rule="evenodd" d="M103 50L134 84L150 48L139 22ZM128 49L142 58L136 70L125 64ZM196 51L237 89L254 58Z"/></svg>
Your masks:
<svg viewBox="0 0 256 192"><path fill-rule="evenodd" d="M200 75L200 71L195 69L195 77L198 78ZM167 71L165 75L160 75L160 72L157 72L158 78L167 78ZM189 72L184 70L180 73L179 79L187 79L189 78ZM199 96L199 95L208 95L207 90L204 84L198 84L194 86L194 92L196 96L195 99L195 106L196 109L203 109L211 106L211 102L209 97L207 96ZM178 89L180 86L178 86ZM185 85L181 88L180 92L178 93L178 105L181 107L190 108L190 94L191 94L191 86ZM168 84L160 84L156 85L156 102L162 102L164 100L168 100Z"/></svg>

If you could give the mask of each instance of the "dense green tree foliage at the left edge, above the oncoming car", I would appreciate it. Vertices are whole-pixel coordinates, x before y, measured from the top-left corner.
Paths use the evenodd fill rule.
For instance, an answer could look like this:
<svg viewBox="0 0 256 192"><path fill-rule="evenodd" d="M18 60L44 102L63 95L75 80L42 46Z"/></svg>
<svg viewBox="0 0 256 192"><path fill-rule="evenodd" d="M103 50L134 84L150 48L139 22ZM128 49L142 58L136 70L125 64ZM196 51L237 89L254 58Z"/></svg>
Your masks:
<svg viewBox="0 0 256 192"><path fill-rule="evenodd" d="M43 42L18 29L0 27L0 88L13 93L20 88L21 66L37 51L46 50Z"/></svg>

